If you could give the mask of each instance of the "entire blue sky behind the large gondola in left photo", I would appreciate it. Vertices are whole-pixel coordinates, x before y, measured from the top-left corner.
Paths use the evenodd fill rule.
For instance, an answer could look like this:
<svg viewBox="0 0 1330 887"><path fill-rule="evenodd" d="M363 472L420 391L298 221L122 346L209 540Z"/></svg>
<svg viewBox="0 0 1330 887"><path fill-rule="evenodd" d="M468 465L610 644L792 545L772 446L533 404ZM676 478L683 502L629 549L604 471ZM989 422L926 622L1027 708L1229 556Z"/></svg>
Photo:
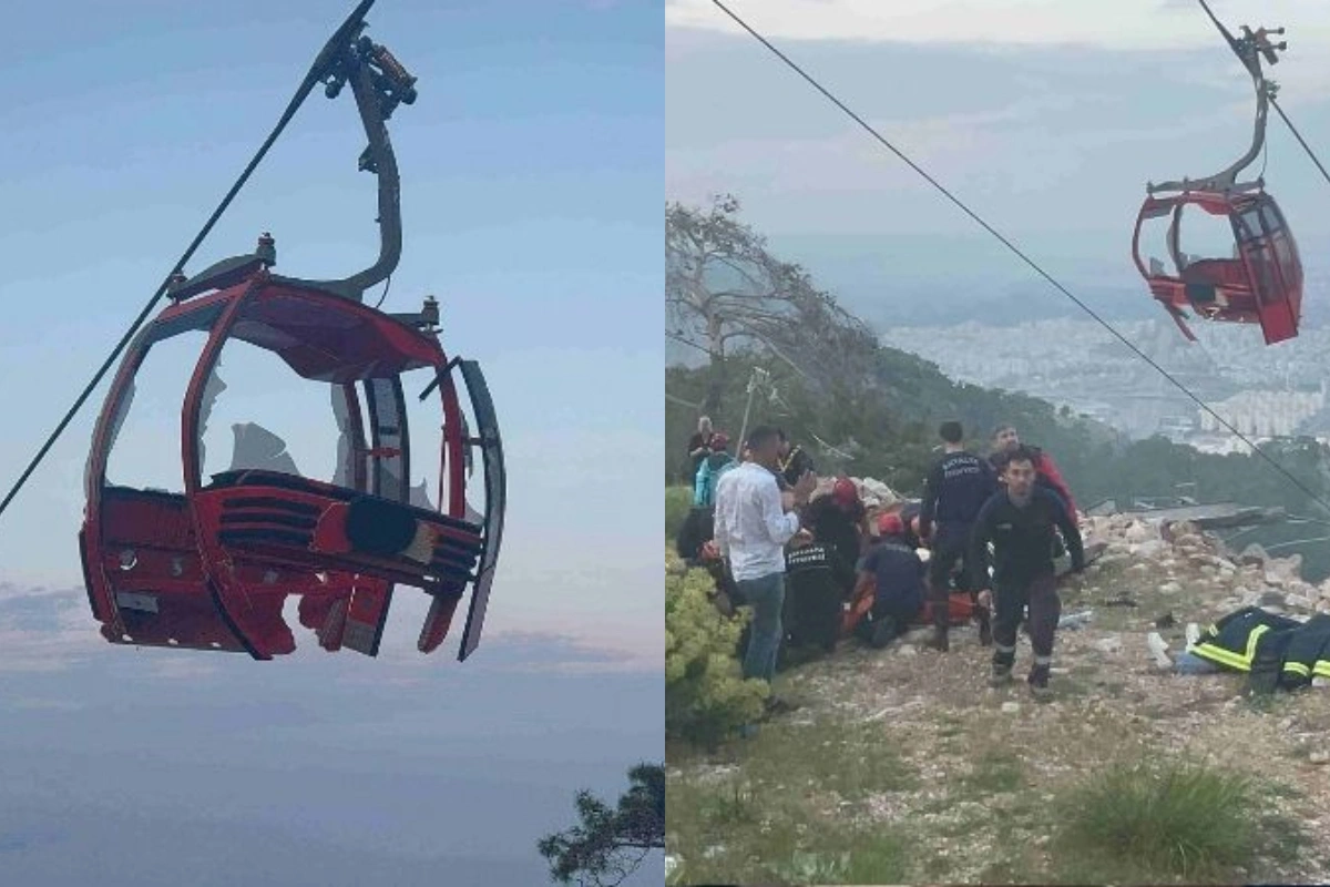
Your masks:
<svg viewBox="0 0 1330 887"><path fill-rule="evenodd" d="M352 5L9 11L5 489ZM380 0L368 21L367 33L419 77L419 100L390 121L406 237L384 309L439 298L444 348L480 362L505 439L509 512L487 640L459 665L459 622L444 648L420 657L414 637L427 601L403 589L380 661L310 652L303 629L302 649L266 666L105 645L76 549L104 382L0 516L5 753L23 762L0 779L0 866L27 883L90 876L69 860L80 848L109 858L113 830L92 823L142 787L156 799L136 814L136 834L203 860L217 854L200 824L209 817L234 827L242 844L233 852L281 819L289 827L263 859L327 852L338 862L319 871L350 876L359 870L335 844L359 840L358 810L372 807L364 871L396 859L406 866L398 883L431 871L450 880L439 859L477 856L497 860L473 870L493 883L536 883L535 840L572 823L573 793L585 785L617 797L632 763L662 755L660 483L646 469L662 459L661 5ZM378 234L374 178L355 169L363 138L350 90L338 101L315 90L186 270L250 251L265 230L279 273L334 277L367 265ZM176 419L156 406L150 434L126 426L122 440L141 463L170 465ZM290 415L309 408L293 404ZM330 445L318 430L293 432L293 453ZM209 723L222 733L200 726ZM184 742L197 741L198 753L173 746L148 767L153 775L134 775L182 725L196 725ZM102 730L110 742L90 738ZM239 745L225 738L233 733ZM459 773L472 783L450 782ZM277 777L286 794L261 815ZM422 807L426 795L438 806ZM406 836L386 836L394 828ZM181 852L170 862L186 862ZM128 880L138 868L120 871Z"/></svg>

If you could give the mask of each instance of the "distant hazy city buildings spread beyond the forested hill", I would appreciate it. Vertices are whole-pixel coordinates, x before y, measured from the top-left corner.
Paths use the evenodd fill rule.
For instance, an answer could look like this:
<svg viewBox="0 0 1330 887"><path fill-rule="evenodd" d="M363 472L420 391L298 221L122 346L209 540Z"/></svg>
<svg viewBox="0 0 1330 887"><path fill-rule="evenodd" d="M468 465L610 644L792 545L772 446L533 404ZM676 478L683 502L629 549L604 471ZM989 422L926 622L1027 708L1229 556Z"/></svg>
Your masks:
<svg viewBox="0 0 1330 887"><path fill-rule="evenodd" d="M1311 278L1306 291L1309 301L1319 299L1330 294L1330 281ZM1305 324L1298 338L1275 346L1266 346L1254 326L1196 320L1194 343L1166 317L1113 326L1242 435L1330 442L1330 326ZM1213 415L1091 319L895 327L882 342L936 363L958 382L1041 398L1133 439L1164 435L1205 452L1246 451Z"/></svg>

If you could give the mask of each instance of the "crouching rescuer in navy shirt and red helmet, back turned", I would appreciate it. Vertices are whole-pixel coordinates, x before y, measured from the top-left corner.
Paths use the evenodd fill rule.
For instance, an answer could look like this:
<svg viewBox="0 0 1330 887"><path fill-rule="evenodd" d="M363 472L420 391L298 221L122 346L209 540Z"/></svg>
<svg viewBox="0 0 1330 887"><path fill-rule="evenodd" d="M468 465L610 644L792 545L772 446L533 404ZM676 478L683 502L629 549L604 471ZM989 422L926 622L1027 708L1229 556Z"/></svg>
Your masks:
<svg viewBox="0 0 1330 887"><path fill-rule="evenodd" d="M924 567L918 552L906 544L904 529L899 515L882 515L879 541L859 564L851 608L858 608L857 616L867 617L857 628L875 648L910 630L923 608Z"/></svg>

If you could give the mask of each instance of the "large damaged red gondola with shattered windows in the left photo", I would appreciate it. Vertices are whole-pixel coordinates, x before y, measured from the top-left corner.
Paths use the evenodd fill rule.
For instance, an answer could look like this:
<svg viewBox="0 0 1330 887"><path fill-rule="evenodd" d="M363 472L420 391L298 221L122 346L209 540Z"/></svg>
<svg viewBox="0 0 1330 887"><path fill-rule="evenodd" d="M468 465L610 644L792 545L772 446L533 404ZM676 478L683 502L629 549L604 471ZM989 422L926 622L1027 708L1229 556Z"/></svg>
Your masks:
<svg viewBox="0 0 1330 887"><path fill-rule="evenodd" d="M362 3L358 15L367 7ZM415 78L387 49L359 36L363 21L348 25L321 56L319 78L329 97L350 81L368 134L360 169L378 176L379 259L340 281L285 278L269 270L275 249L265 235L254 254L218 262L193 279L181 275L168 290L173 303L138 334L120 366L88 460L78 541L92 612L113 644L269 660L295 648L282 606L297 594L302 625L325 649L375 656L396 584L434 597L418 644L424 653L443 641L472 585L459 658L480 642L503 532L499 431L477 364L450 359L439 344L434 299L408 315L363 303L366 289L384 281L400 257L398 170L384 120L399 102L415 100ZM206 344L181 412L184 493L116 485L106 464L136 372L154 346L194 331L206 334ZM238 460L230 471L203 476L201 435L218 390L218 358L231 342L274 354L299 376L327 386L347 442L334 483L301 476L289 457ZM402 375L412 370L432 376L420 399L440 404L436 507L411 501L412 460L431 457L411 448ZM480 512L466 501L473 448L483 456Z"/></svg>

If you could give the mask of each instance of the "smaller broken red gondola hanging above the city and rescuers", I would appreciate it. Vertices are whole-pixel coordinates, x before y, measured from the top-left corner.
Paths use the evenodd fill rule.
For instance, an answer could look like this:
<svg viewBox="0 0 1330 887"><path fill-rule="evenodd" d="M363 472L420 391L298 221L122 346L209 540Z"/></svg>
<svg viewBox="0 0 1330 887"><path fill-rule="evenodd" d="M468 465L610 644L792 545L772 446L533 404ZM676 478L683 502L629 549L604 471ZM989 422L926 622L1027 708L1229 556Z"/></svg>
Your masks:
<svg viewBox="0 0 1330 887"><path fill-rule="evenodd" d="M1252 32L1244 25L1244 36L1236 39L1204 0L1201 5L1242 60L1256 85L1252 148L1217 176L1148 185L1149 195L1136 218L1132 254L1150 294L1164 305L1188 339L1196 340L1185 323L1185 311L1190 310L1210 320L1260 323L1266 344L1274 344L1298 334L1302 262L1278 203L1265 191L1264 178L1238 182L1237 174L1256 160L1265 144L1266 110L1277 86L1265 80L1261 56L1270 64L1278 61L1275 51L1285 49L1286 44L1271 44L1266 35L1283 33L1283 28ZM1182 213L1189 206L1228 218L1233 231L1230 257L1201 258L1181 249ZM1172 266L1154 257L1149 257L1148 263L1141 258L1141 226L1146 219L1164 217L1170 217L1165 247Z"/></svg>

